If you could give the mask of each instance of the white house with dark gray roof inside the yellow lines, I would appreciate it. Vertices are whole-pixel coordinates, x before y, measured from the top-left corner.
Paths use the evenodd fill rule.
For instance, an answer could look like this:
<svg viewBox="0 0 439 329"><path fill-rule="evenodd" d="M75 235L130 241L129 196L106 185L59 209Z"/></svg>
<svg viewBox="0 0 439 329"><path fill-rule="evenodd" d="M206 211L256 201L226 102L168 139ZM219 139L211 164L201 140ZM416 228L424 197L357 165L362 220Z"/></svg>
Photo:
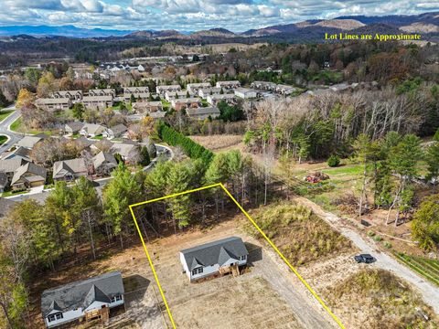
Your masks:
<svg viewBox="0 0 439 329"><path fill-rule="evenodd" d="M241 238L230 237L180 250L180 261L189 281L247 264L249 252Z"/></svg>

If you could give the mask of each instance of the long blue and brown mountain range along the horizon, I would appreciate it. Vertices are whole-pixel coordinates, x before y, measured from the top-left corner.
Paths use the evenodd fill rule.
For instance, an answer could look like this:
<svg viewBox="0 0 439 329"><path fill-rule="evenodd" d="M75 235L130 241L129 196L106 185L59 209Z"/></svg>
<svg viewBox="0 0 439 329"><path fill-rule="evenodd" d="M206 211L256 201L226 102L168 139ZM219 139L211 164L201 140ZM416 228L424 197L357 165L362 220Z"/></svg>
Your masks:
<svg viewBox="0 0 439 329"><path fill-rule="evenodd" d="M80 28L74 26L9 26L0 27L0 37L123 37L154 39L204 39L204 38L245 38L245 37L320 37L325 32L352 31L355 33L421 33L437 37L439 34L439 12L402 16L339 16L334 19L313 19L304 22L250 29L235 33L225 28L211 28L196 32L177 30L116 30L102 28Z"/></svg>

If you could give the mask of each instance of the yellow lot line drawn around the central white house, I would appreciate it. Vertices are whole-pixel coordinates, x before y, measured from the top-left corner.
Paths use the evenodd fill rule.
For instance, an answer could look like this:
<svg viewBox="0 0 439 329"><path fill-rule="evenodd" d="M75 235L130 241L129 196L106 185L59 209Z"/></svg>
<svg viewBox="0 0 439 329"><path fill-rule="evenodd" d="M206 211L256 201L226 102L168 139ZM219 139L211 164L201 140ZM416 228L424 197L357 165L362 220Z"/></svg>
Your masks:
<svg viewBox="0 0 439 329"><path fill-rule="evenodd" d="M165 302L166 311L167 311L167 314L169 315L169 319L170 319L170 321L171 321L171 324L172 324L173 328L174 328L174 329L177 329L177 326L176 326L176 324L175 324L175 322L174 322L174 318L172 317L172 313L171 313L171 310L170 310L170 308L169 308L169 305L167 304L166 297L165 297L165 293L163 292L163 289L162 289L162 286L161 286L161 284L160 284L160 281L158 280L158 276L157 276L157 273L156 273L156 271L155 271L155 267L154 267L154 264L153 264L153 260L151 259L151 256L149 255L148 249L146 248L146 244L145 244L144 237L142 236L142 232L140 231L139 225L137 224L137 219L135 218L134 211L133 211L133 207L146 205L146 204L148 204L148 203L152 203L152 202L159 201L159 200L164 200L164 199L166 199L166 198L170 198L170 197L182 196L182 195L185 195L185 194L188 194L188 193L193 193L193 192L197 192L197 191L205 190L205 189L212 188L212 187L221 187L221 188L224 190L224 192L226 192L226 194L227 194L227 195L230 197L230 199L236 204L236 206L238 206L238 207L240 208L241 212L245 215L245 217L248 218L248 219L250 220L250 222L252 223L252 225L253 225L253 226L254 226L254 227L255 227L255 228L256 228L256 229L262 234L262 237L263 237L264 239L267 240L267 242L270 244L270 246L273 247L274 251L277 252L277 254L281 257L282 260L284 260L285 264L290 268L290 270L294 272L295 276L296 276L300 281L302 281L302 283L304 283L306 289L307 289L309 292L311 292L311 293L313 294L314 297L316 297L316 300L317 300L318 302L320 302L320 304L321 304L321 305L323 306L323 308L327 311L327 313L328 313L329 315L331 315L331 317L336 321L336 323L338 324L338 326L339 326L340 328L342 328L342 329L345 329L345 326L340 322L340 320L337 318L336 314L334 314L334 313L331 312L331 310L329 309L329 307L327 307L327 304L326 304L325 302L323 302L323 300L322 300L322 299L316 294L316 292L313 290L313 288L311 288L311 286L308 284L308 282L306 282L305 279L302 278L302 276L299 274L299 272L298 272L297 270L295 270L294 266L291 265L290 262L284 257L283 253L282 253L279 249L277 249L277 247L274 245L274 243L272 242L272 240L269 239L269 238L265 235L265 233L263 233L262 229L258 226L258 224L256 224L256 222L255 222L255 221L253 220L253 218L247 213L247 211L245 211L244 208L241 207L241 204L240 204L240 203L239 203L239 202L238 202L238 201L237 201L237 200L231 195L231 193L229 192L229 190L228 190L228 189L226 188L226 186L224 186L222 183L212 184L212 185L209 185L209 186L202 186L202 187L194 188L194 189L187 190L187 191L184 191L184 192L175 193L175 194L168 195L168 196L161 196L161 197L157 197L157 198L155 198L155 199L146 200L146 201L143 201L143 202L139 202L139 203L136 203L136 204L130 205L130 211L131 211L131 215L133 216L133 219L134 219L134 225L135 225L135 228L137 228L137 232L139 233L140 240L142 241L142 245L144 246L145 254L146 254L146 258L148 259L148 261L149 261L149 265L151 266L151 270L153 271L154 278L155 278L155 282L157 283L158 290L160 291L160 294L162 295L163 302Z"/></svg>

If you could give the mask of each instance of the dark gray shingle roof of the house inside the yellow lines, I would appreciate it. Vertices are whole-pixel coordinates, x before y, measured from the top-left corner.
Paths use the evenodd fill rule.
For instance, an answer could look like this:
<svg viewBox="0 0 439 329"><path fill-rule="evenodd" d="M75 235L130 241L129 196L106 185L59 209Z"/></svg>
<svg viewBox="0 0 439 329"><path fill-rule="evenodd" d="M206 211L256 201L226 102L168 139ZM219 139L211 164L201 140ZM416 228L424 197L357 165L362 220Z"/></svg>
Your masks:
<svg viewBox="0 0 439 329"><path fill-rule="evenodd" d="M222 265L230 258L236 260L241 256L249 254L244 242L238 237L220 239L197 247L182 249L180 252L185 257L189 271L192 271L198 265Z"/></svg>

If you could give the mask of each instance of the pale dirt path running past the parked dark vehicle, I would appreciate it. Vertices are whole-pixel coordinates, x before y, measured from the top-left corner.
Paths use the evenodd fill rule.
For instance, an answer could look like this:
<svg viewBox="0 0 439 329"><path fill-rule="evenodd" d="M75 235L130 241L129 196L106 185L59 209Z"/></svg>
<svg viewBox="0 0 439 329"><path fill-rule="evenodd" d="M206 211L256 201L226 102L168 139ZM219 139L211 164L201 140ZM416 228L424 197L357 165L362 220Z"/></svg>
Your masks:
<svg viewBox="0 0 439 329"><path fill-rule="evenodd" d="M375 241L372 239L363 239L354 229L343 225L341 218L337 217L337 215L326 212L320 206L316 205L316 203L305 197L297 196L295 197L295 200L313 209L316 215L325 219L329 225L336 228L341 234L350 239L354 245L361 250L361 253L369 253L374 256L377 259L374 266L382 270L391 271L403 280L410 282L419 292L421 292L423 301L432 306L434 312L439 314L439 289L432 283L425 281L412 270L405 267L397 260L394 260L388 254L381 252L377 248Z"/></svg>

